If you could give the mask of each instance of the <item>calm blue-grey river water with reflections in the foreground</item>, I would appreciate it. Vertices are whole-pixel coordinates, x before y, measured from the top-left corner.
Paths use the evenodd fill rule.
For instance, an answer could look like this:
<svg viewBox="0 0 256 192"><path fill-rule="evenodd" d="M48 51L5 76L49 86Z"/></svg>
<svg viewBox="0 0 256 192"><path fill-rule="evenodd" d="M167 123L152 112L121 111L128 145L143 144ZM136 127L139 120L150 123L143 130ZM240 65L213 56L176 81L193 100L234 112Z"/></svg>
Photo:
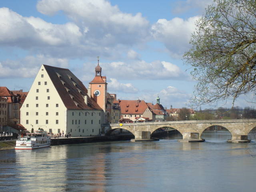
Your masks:
<svg viewBox="0 0 256 192"><path fill-rule="evenodd" d="M256 158L249 152L256 143L228 143L228 131L205 131L202 138L177 142L178 133L157 142L0 151L0 191L255 191Z"/></svg>

